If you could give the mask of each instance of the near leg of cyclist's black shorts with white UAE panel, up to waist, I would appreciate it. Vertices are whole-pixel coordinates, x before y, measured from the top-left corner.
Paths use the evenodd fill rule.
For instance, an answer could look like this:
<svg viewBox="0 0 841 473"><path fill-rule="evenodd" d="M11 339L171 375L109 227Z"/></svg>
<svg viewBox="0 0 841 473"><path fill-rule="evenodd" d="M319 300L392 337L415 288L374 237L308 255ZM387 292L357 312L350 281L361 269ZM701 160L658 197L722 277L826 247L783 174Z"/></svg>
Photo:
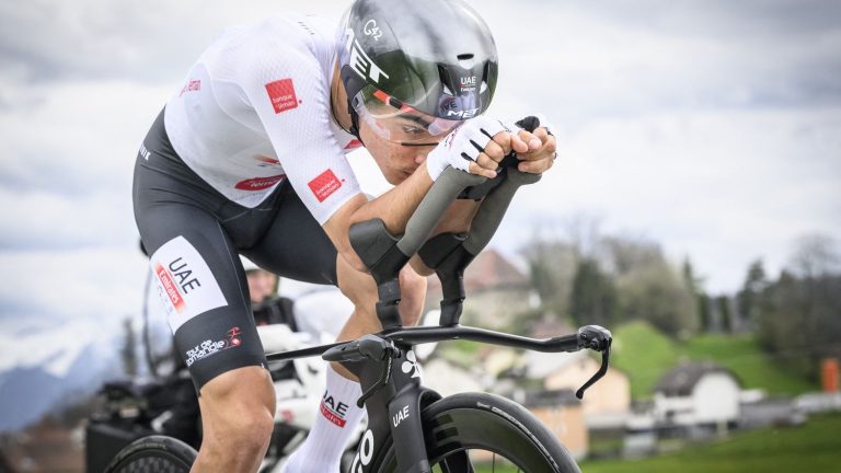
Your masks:
<svg viewBox="0 0 841 473"><path fill-rule="evenodd" d="M162 112L137 157L135 219L175 348L200 389L220 373L266 361L242 264L219 222L228 200L183 162L164 128Z"/></svg>

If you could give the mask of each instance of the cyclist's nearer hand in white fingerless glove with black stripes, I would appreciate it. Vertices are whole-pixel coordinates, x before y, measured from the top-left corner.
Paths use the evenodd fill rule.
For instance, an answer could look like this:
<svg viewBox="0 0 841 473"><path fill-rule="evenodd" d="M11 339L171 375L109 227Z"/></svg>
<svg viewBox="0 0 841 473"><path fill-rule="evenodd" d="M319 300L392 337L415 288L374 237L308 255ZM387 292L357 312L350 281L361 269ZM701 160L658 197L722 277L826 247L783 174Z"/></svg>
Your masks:
<svg viewBox="0 0 841 473"><path fill-rule="evenodd" d="M511 134L496 119L476 117L464 122L429 152L426 169L433 181L448 165L483 175L496 177L499 162L511 151Z"/></svg>

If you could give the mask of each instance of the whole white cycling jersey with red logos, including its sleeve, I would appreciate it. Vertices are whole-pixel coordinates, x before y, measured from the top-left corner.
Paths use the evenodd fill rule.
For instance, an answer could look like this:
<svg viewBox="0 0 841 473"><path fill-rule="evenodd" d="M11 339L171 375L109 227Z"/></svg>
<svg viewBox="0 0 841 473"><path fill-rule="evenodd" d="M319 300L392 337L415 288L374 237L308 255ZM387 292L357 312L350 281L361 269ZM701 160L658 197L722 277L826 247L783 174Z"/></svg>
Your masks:
<svg viewBox="0 0 841 473"><path fill-rule="evenodd" d="M319 223L358 194L345 153L361 143L331 112L333 32L284 15L222 33L166 103L166 134L184 162L249 208L288 178Z"/></svg>

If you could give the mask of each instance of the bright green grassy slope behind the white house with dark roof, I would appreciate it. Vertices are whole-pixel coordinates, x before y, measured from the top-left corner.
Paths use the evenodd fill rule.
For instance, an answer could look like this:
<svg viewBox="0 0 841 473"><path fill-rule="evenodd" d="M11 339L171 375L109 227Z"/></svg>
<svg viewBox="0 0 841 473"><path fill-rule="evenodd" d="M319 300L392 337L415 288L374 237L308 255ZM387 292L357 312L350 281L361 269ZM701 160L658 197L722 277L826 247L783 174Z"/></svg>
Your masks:
<svg viewBox="0 0 841 473"><path fill-rule="evenodd" d="M699 335L680 343L644 322L622 325L613 334L613 366L631 378L633 399L650 397L660 376L681 360L713 361L736 373L742 389L762 389L770 395L796 395L819 389L775 365L749 335Z"/></svg>

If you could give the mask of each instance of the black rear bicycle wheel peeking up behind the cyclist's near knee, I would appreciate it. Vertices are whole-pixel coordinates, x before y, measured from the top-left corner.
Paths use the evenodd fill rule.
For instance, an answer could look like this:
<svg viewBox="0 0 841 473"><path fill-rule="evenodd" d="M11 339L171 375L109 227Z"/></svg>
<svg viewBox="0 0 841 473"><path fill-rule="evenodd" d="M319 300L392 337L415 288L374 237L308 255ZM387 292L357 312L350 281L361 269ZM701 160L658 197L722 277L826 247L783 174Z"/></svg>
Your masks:
<svg viewBox="0 0 841 473"><path fill-rule="evenodd" d="M178 439L143 437L120 450L104 473L189 473L196 454Z"/></svg>

